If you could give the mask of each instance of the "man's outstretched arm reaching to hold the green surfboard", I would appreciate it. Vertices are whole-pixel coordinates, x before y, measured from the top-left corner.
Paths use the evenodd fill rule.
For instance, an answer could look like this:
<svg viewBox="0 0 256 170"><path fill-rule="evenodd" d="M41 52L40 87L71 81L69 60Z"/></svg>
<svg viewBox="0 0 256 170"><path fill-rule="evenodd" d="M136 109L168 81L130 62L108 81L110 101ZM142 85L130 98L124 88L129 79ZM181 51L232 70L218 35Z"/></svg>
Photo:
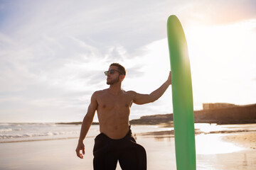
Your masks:
<svg viewBox="0 0 256 170"><path fill-rule="evenodd" d="M169 73L169 77L167 81L162 84L159 89L156 89L151 94L135 94L133 102L139 105L151 103L159 99L166 89L171 85L171 72Z"/></svg>

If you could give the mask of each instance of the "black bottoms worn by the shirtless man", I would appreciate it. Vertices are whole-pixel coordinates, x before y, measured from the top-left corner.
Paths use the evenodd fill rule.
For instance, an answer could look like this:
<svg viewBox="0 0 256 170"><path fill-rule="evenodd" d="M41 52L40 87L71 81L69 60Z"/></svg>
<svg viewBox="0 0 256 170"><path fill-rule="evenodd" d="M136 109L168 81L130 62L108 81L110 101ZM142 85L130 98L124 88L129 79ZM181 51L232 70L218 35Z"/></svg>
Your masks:
<svg viewBox="0 0 256 170"><path fill-rule="evenodd" d="M122 170L146 170L146 151L134 140L131 130L120 140L100 133L95 137L93 155L95 170L114 170L117 161Z"/></svg>

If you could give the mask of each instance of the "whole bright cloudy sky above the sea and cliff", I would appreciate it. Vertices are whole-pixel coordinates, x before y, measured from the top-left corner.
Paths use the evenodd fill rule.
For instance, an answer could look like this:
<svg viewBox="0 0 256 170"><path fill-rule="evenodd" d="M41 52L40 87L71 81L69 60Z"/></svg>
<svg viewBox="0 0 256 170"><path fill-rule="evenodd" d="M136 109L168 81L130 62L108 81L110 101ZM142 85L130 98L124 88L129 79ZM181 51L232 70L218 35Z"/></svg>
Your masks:
<svg viewBox="0 0 256 170"><path fill-rule="evenodd" d="M122 89L151 93L169 75L170 15L186 35L194 110L256 103L254 0L1 0L0 122L82 121L113 62L127 69ZM171 87L130 119L165 113Z"/></svg>

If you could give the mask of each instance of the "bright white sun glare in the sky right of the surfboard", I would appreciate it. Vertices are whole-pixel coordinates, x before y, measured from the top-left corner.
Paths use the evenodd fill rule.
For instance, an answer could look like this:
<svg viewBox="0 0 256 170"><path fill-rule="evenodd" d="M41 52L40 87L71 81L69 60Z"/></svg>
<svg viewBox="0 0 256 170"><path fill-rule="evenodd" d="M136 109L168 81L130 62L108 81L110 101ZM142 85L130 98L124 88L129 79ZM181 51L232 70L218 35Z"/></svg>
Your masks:
<svg viewBox="0 0 256 170"><path fill-rule="evenodd" d="M204 102L240 103L239 98L234 101L234 91L253 91L245 87L255 79L255 27L254 21L247 21L186 30L193 89L198 96L210 96Z"/></svg>

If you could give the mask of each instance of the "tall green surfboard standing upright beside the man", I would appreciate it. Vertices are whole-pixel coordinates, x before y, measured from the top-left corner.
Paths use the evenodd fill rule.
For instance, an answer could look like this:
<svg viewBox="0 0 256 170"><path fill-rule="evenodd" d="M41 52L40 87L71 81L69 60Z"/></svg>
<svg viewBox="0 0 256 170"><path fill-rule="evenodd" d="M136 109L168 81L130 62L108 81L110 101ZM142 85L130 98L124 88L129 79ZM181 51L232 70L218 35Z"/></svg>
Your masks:
<svg viewBox="0 0 256 170"><path fill-rule="evenodd" d="M193 94L188 45L180 21L169 16L167 36L171 62L177 170L196 169Z"/></svg>

